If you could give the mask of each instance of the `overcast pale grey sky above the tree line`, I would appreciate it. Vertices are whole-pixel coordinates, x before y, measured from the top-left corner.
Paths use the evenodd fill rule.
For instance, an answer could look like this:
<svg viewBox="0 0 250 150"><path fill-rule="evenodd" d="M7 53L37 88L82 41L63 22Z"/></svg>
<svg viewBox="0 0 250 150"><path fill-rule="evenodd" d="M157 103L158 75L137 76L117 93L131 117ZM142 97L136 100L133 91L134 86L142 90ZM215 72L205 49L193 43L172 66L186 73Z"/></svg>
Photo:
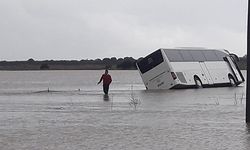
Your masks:
<svg viewBox="0 0 250 150"><path fill-rule="evenodd" d="M0 0L0 60L246 54L247 0Z"/></svg>

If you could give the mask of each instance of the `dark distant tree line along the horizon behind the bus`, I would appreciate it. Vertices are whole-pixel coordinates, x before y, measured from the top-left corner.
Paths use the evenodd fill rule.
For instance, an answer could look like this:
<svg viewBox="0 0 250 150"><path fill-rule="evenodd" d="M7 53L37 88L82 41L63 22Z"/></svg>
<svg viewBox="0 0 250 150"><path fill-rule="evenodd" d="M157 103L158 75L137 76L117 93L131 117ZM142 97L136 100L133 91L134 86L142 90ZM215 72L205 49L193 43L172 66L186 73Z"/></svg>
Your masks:
<svg viewBox="0 0 250 150"><path fill-rule="evenodd" d="M27 61L0 61L0 70L134 70L136 61L133 57L82 59L82 60L44 60L36 61L30 58ZM247 56L239 58L239 68L246 70Z"/></svg>

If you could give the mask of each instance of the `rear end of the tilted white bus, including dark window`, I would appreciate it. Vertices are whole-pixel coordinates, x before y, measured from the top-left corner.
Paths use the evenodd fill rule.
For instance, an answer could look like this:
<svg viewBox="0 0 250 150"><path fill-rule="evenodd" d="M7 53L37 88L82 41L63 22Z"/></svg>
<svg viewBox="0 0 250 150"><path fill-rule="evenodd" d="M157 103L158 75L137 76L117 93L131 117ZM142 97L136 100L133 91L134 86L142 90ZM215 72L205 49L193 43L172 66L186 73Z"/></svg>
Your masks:
<svg viewBox="0 0 250 150"><path fill-rule="evenodd" d="M136 66L146 89L170 89L177 84L177 77L161 49L139 60Z"/></svg>

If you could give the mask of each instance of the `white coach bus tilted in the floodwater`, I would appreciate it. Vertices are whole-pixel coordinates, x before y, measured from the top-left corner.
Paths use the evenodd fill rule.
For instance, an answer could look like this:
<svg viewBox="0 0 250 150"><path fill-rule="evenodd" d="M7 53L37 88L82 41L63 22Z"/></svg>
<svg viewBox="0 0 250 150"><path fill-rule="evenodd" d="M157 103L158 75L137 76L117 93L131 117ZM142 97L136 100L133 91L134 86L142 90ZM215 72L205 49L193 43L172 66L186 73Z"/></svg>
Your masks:
<svg viewBox="0 0 250 150"><path fill-rule="evenodd" d="M227 50L158 49L137 61L146 89L237 86L245 81Z"/></svg>

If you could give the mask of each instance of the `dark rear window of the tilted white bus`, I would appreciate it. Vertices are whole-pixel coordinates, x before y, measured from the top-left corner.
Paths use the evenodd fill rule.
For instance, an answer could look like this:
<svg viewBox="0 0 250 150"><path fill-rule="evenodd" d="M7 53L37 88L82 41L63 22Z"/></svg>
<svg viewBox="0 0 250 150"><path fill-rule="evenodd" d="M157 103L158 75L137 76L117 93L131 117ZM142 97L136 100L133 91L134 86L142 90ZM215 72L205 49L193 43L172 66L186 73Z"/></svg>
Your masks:
<svg viewBox="0 0 250 150"><path fill-rule="evenodd" d="M154 53L146 56L142 60L137 62L138 68L140 69L141 73L145 73L160 63L163 62L163 57L161 54L161 50L157 50Z"/></svg>

